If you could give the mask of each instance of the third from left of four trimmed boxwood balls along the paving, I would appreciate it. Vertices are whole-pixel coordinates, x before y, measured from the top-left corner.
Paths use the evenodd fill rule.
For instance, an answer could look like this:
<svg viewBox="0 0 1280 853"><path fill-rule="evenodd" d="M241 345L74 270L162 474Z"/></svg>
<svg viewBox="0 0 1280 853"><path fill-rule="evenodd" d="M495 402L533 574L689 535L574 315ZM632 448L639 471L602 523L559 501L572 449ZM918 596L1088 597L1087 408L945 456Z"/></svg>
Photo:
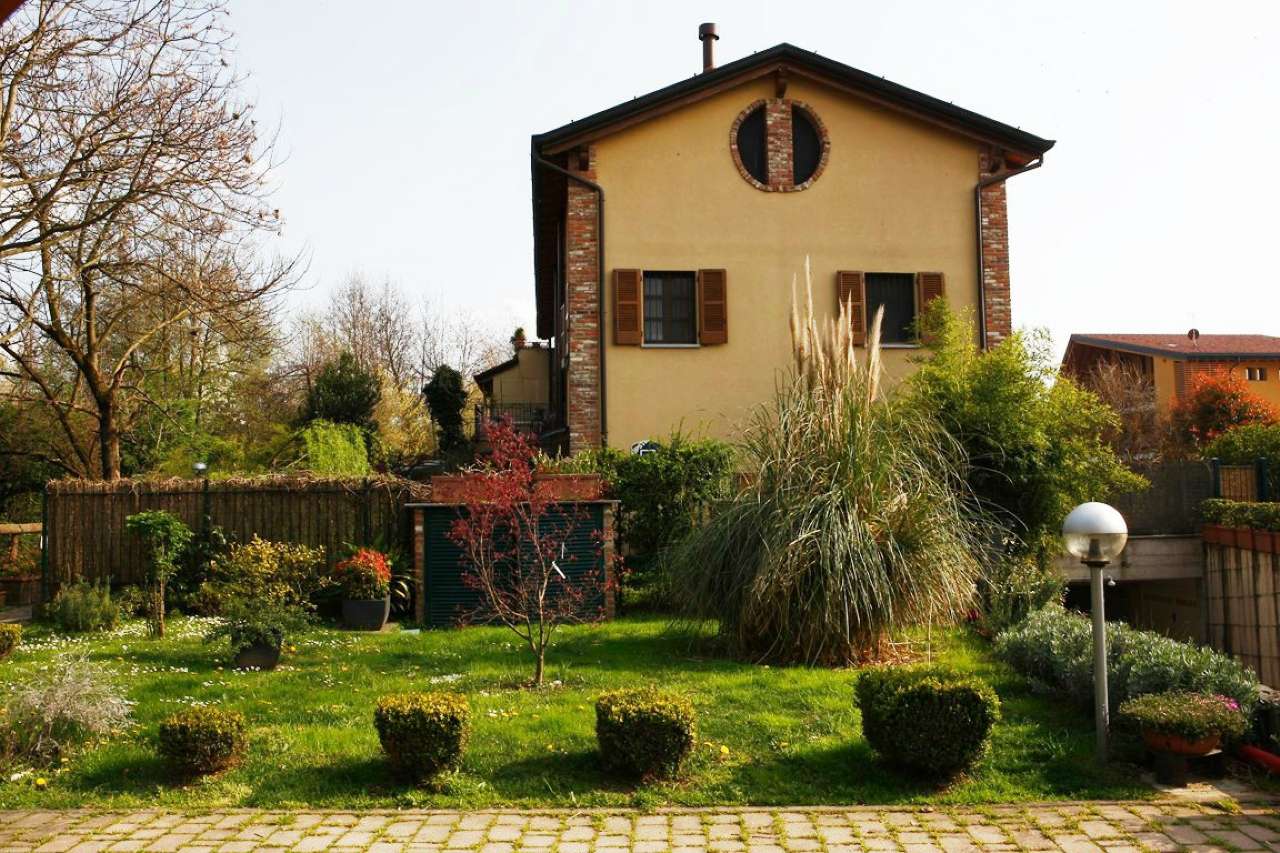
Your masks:
<svg viewBox="0 0 1280 853"><path fill-rule="evenodd" d="M595 702L595 739L605 770L641 780L680 772L698 739L687 697L654 688L613 690Z"/></svg>

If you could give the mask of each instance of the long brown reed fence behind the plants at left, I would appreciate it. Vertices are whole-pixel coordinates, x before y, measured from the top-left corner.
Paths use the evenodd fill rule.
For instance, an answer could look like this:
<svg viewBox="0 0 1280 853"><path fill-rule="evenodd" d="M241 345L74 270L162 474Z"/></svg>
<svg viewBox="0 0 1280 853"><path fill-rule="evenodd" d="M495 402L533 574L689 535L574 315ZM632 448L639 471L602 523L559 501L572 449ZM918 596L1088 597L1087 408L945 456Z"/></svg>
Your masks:
<svg viewBox="0 0 1280 853"><path fill-rule="evenodd" d="M56 480L49 484L46 506L49 578L52 584L74 578L141 581L142 547L124 520L143 510L172 512L197 535L219 526L236 542L256 534L323 546L330 565L346 543L380 543L408 556L404 505L428 497L429 485L396 478Z"/></svg>

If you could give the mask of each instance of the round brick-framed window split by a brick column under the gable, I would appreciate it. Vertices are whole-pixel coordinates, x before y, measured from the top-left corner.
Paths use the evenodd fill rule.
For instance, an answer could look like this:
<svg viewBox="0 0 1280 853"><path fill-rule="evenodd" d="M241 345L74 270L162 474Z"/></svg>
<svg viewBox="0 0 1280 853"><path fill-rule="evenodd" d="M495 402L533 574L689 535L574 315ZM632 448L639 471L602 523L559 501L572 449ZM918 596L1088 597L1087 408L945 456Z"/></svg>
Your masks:
<svg viewBox="0 0 1280 853"><path fill-rule="evenodd" d="M739 114L730 149L739 173L756 190L794 192L822 175L831 141L806 104L774 99L755 101Z"/></svg>

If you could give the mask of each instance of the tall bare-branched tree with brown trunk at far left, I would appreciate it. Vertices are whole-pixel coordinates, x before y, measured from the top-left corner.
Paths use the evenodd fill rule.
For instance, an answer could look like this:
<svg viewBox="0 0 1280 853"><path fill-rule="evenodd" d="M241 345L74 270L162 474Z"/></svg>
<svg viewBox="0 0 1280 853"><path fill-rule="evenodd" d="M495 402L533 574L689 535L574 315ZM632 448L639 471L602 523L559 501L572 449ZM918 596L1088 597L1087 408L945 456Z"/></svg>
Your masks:
<svg viewBox="0 0 1280 853"><path fill-rule="evenodd" d="M221 0L38 0L0 29L0 351L82 475L120 475L120 410L151 342L234 324L294 278L296 261L257 256L279 220L271 146L224 15Z"/></svg>

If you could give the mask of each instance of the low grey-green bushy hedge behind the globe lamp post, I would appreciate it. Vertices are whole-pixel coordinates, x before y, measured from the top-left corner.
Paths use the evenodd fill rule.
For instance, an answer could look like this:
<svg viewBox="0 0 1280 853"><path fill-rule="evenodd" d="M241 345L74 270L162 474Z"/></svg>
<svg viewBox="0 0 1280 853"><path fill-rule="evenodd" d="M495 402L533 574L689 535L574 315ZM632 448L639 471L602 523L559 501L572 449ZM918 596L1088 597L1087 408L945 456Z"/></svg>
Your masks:
<svg viewBox="0 0 1280 853"><path fill-rule="evenodd" d="M1000 634L996 653L1080 706L1092 703L1093 628L1088 616L1046 607ZM1245 712L1258 701L1257 678L1234 658L1124 622L1107 622L1107 689L1111 707L1171 690L1229 695Z"/></svg>

